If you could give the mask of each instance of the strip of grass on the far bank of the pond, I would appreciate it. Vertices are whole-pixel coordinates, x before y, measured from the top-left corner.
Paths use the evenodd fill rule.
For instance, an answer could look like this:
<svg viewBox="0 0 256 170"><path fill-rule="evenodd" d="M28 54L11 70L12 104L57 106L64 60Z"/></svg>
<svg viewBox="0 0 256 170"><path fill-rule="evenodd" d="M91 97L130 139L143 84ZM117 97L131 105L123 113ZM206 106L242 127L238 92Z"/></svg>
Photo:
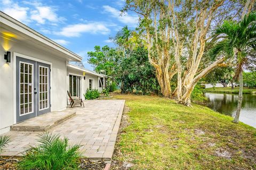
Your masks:
<svg viewBox="0 0 256 170"><path fill-rule="evenodd" d="M231 87L215 87L213 88L207 88L205 89L205 92L218 92L218 93L227 93L227 94L238 94L239 93L239 87L235 87L234 89L231 89ZM249 89L249 88L243 88L243 94L251 94L253 92L256 92L256 89Z"/></svg>

